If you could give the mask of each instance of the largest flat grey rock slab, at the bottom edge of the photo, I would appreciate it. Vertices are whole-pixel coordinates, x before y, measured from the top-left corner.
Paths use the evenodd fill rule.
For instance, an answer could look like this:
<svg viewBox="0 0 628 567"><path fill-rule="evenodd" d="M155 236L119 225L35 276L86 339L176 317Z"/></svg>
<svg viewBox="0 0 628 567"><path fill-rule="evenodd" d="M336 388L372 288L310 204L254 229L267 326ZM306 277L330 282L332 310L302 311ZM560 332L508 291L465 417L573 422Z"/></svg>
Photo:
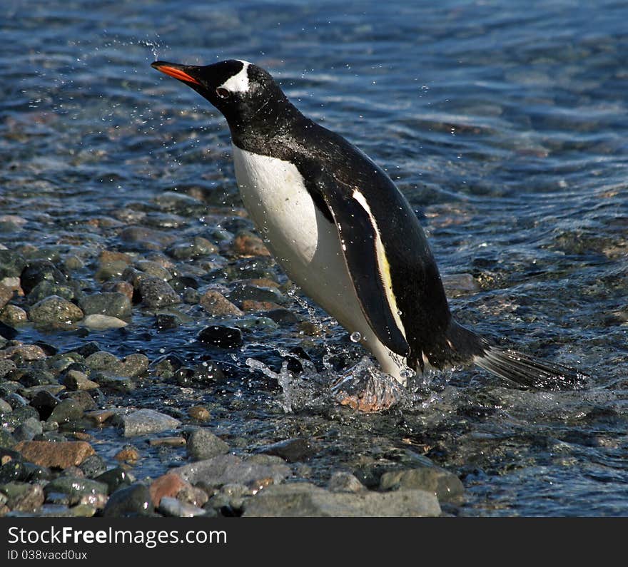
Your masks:
<svg viewBox="0 0 628 567"><path fill-rule="evenodd" d="M440 516L436 496L422 490L330 492L309 483L268 486L245 501L248 517Z"/></svg>

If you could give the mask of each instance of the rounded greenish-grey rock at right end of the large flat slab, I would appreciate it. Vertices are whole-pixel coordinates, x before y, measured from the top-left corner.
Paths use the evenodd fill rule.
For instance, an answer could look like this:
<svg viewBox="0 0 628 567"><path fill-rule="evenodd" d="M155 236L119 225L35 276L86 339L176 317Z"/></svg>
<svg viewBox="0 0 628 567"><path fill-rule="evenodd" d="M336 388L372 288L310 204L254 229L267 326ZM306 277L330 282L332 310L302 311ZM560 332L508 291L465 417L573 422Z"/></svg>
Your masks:
<svg viewBox="0 0 628 567"><path fill-rule="evenodd" d="M380 489L422 489L435 494L440 502L458 501L465 494L465 486L455 474L435 466L384 473Z"/></svg>

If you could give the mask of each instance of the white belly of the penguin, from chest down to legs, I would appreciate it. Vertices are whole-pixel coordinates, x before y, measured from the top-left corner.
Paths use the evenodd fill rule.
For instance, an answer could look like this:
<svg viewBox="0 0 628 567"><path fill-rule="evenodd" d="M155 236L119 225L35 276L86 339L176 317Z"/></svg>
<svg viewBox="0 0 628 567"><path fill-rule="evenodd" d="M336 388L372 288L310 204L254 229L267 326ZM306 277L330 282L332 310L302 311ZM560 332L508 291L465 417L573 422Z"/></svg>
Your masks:
<svg viewBox="0 0 628 567"><path fill-rule="evenodd" d="M375 336L365 319L348 272L340 238L314 204L295 165L233 146L240 195L268 249L288 277L380 362L384 372L405 382L404 361Z"/></svg>

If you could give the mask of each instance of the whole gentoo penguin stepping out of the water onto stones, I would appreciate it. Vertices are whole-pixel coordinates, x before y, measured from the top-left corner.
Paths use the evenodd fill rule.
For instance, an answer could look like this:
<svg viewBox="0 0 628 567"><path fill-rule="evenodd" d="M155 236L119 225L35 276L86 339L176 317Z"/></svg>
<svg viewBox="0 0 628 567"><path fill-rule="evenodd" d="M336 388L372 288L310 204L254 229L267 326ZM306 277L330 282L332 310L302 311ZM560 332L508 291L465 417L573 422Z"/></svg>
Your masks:
<svg viewBox="0 0 628 567"><path fill-rule="evenodd" d="M293 282L399 382L475 363L522 386L579 383L574 369L491 344L452 317L417 216L378 165L301 114L247 61L156 61L225 116L245 208Z"/></svg>

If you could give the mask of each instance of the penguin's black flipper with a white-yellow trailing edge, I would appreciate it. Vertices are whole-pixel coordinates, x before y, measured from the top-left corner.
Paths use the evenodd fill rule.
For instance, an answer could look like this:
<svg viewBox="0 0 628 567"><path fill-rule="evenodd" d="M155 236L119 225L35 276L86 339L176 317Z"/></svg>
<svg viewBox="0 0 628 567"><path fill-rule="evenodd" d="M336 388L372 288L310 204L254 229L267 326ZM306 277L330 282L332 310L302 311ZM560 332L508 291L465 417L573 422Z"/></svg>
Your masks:
<svg viewBox="0 0 628 567"><path fill-rule="evenodd" d="M358 189L351 190L327 177L319 180L318 190L338 230L345 264L366 320L385 347L406 357L410 347L397 315L390 266L375 218Z"/></svg>

